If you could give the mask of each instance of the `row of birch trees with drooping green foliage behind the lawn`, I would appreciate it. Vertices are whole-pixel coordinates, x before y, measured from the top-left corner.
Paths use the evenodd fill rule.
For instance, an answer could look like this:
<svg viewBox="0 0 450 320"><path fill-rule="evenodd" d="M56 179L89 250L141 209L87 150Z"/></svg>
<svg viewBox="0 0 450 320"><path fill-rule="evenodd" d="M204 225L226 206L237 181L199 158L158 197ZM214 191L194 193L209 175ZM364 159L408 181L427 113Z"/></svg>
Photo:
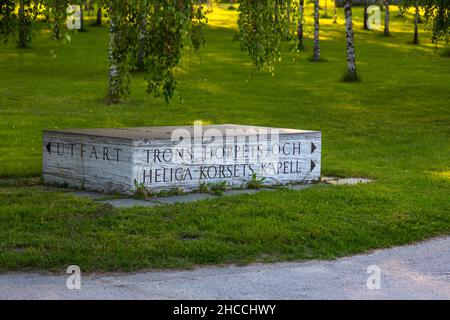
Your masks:
<svg viewBox="0 0 450 320"><path fill-rule="evenodd" d="M311 61L319 61L320 6L319 0L307 0L314 6L314 41ZM364 1L364 29L369 29ZM384 35L390 36L390 1L383 0ZM209 2L207 4L207 2ZM232 1L234 3L237 1ZM79 5L81 27L85 31L84 12L96 10L95 25L109 17L109 91L108 101L118 102L129 93L130 71L146 73L147 91L169 101L176 80L174 69L183 51L191 47L198 51L205 41L206 11L212 1L203 0L0 0L0 36L14 39L18 47L26 48L32 40L32 21L39 15L51 30L55 40L70 39L66 28L67 7ZM333 2L333 22L337 22L337 2ZM282 42L292 41L297 50L305 50L305 0L240 0L238 7L239 40L257 69L274 71L281 59ZM421 13L432 30L432 41L448 43L450 35L450 0L401 0L400 12L414 9L413 41L417 44ZM328 2L324 15L328 17ZM347 44L347 73L344 80L358 80L353 36L352 0L344 0Z"/></svg>

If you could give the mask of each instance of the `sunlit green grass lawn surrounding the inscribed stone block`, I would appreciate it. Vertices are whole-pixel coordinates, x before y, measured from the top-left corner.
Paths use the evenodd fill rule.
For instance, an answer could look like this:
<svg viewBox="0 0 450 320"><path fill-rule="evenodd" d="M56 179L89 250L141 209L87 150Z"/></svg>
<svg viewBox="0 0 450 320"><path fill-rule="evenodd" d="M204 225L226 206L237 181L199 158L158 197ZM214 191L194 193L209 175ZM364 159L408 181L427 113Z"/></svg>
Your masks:
<svg viewBox="0 0 450 320"><path fill-rule="evenodd" d="M226 6L225 6L226 8ZM360 83L343 83L339 23L321 22L321 53L287 52L275 76L253 71L233 42L236 11L210 16L207 44L186 53L172 103L132 95L107 105L107 27L58 46L37 24L29 49L0 45L0 270L84 271L328 259L450 233L450 59L412 40L362 30L354 10ZM370 177L358 186L276 190L192 204L115 209L40 185L43 129L238 123L321 130L322 174Z"/></svg>

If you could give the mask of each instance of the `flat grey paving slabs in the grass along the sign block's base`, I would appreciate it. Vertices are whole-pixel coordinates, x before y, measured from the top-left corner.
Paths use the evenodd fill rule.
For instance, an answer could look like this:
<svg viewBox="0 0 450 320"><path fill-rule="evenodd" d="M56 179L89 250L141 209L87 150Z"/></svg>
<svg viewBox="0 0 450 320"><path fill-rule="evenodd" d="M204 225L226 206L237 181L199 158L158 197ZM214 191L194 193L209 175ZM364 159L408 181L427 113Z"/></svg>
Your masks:
<svg viewBox="0 0 450 320"><path fill-rule="evenodd" d="M336 178L336 177L322 177L321 181L318 183L319 185L356 185L360 183L369 183L372 180L367 178ZM318 184L292 184L281 186L281 188L290 189L290 190L304 190L310 188L312 186ZM72 191L70 194L80 197L80 198L89 198L98 203L109 204L113 207L117 208L131 208L131 207L154 207L159 205L170 205L175 203L190 203L195 201L207 200L207 199L217 199L219 197L228 197L228 196L238 196L243 194L255 194L261 191L273 191L275 189L270 188L261 188L261 189L236 189L236 190L228 190L223 192L222 195L212 195L208 193L188 193L185 195L175 195L175 196L167 196L167 197L155 197L148 200L140 200L134 198L114 198L111 199L110 196L94 192L94 191Z"/></svg>

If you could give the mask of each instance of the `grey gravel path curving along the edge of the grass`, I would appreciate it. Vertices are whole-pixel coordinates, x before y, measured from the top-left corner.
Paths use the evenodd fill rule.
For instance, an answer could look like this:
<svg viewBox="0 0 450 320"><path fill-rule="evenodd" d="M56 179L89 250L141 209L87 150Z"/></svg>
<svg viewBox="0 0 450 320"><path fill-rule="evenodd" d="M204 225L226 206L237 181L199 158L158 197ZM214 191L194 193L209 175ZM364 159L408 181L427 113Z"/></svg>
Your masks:
<svg viewBox="0 0 450 320"><path fill-rule="evenodd" d="M450 299L450 237L334 261L82 275L80 290L67 277L0 274L0 299Z"/></svg>

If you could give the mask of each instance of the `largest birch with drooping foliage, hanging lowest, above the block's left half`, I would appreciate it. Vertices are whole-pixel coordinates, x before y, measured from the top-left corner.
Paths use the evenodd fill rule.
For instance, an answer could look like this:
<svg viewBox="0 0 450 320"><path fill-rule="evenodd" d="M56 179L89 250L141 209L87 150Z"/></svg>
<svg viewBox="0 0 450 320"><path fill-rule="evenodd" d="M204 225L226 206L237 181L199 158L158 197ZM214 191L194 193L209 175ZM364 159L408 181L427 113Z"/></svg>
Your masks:
<svg viewBox="0 0 450 320"><path fill-rule="evenodd" d="M147 8L147 9L146 9ZM136 53L141 59L147 92L168 102L175 92L174 70L184 48L203 44L206 24L197 0L110 0L108 101L126 98ZM142 50L140 50L142 48Z"/></svg>

